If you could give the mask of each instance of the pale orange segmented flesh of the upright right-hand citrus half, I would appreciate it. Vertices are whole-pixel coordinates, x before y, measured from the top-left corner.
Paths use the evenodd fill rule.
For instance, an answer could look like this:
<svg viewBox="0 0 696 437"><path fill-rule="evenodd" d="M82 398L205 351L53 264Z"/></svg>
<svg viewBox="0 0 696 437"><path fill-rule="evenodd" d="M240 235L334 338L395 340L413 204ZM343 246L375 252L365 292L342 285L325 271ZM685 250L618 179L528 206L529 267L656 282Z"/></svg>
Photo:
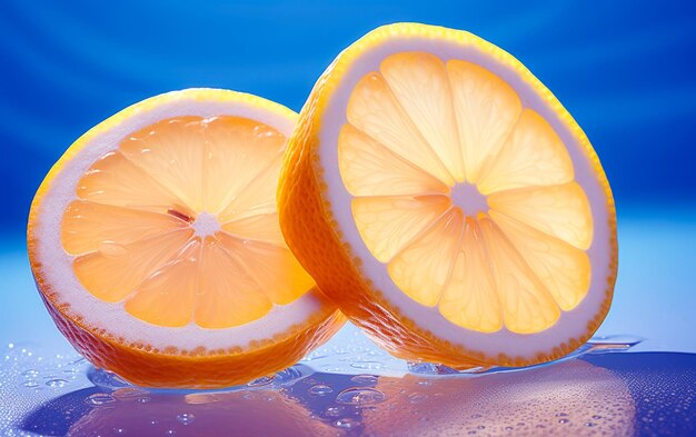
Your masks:
<svg viewBox="0 0 696 437"><path fill-rule="evenodd" d="M338 163L367 248L453 324L543 331L589 288L589 201L553 127L491 71L386 58L351 92Z"/></svg>

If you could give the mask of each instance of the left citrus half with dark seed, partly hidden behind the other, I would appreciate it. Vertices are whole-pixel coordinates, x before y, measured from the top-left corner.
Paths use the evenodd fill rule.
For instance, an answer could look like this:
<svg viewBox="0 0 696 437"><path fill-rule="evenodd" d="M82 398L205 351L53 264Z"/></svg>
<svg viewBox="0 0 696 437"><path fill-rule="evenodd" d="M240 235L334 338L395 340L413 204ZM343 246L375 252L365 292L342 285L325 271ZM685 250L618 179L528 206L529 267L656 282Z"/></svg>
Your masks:
<svg viewBox="0 0 696 437"><path fill-rule="evenodd" d="M278 224L296 118L190 89L127 108L66 151L31 206L28 248L78 351L138 385L209 388L290 366L338 330Z"/></svg>

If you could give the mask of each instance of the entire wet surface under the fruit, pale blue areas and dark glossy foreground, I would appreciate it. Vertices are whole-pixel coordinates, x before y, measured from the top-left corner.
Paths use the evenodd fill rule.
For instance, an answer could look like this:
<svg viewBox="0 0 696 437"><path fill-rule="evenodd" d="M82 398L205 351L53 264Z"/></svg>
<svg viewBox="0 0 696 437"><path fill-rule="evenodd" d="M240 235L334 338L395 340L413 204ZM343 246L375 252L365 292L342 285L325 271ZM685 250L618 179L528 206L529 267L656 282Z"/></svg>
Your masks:
<svg viewBox="0 0 696 437"><path fill-rule="evenodd" d="M696 435L695 217L619 220L605 337L565 360L457 374L395 359L348 326L272 379L216 391L145 390L93 369L46 314L26 249L0 245L0 435Z"/></svg>

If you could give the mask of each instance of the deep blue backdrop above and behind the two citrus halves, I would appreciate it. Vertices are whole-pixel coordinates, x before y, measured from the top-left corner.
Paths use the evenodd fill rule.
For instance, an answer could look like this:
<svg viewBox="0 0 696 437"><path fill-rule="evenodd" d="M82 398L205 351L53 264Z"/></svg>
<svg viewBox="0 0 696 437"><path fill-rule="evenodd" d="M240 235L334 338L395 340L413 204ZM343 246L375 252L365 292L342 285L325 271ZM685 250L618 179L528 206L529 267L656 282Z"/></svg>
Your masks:
<svg viewBox="0 0 696 437"><path fill-rule="evenodd" d="M188 87L299 110L342 48L395 21L466 29L520 59L589 136L619 213L696 203L695 2L341 3L3 1L0 175L10 202L1 234L23 238L50 166L118 110Z"/></svg>

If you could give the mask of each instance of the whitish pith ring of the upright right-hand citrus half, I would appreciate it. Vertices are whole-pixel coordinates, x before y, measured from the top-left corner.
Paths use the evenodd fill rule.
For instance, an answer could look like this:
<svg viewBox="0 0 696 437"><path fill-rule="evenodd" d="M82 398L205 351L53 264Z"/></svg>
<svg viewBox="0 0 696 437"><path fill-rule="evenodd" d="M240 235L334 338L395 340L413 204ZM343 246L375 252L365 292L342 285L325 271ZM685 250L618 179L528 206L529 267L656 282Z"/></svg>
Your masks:
<svg viewBox="0 0 696 437"><path fill-rule="evenodd" d="M348 99L357 82L368 72L379 71L379 66L385 58L402 51L425 51L439 57L445 62L450 59L460 59L487 68L517 91L525 107L536 110L544 117L566 145L574 162L575 180L585 190L591 206L594 239L587 250L591 265L591 281L585 299L571 311L561 311L560 318L550 328L541 332L524 335L511 332L505 327L496 332L478 332L457 326L445 319L437 306L422 306L399 290L389 277L387 265L375 259L360 238L350 209L352 197L344 186L339 172L338 133L347 122ZM581 146L575 139L571 127L560 120L555 110L537 95L531 85L525 82L511 67L498 62L490 53L481 51L474 44L465 47L455 42L435 41L427 37L392 36L389 41L365 50L358 59L347 66L340 83L332 91L327 102L320 126L318 153L324 169L324 179L328 187L325 196L327 196L330 205L332 217L336 219L342 237L352 249L351 255L362 261L362 275L371 281L375 289L400 316L414 320L419 328L431 332L444 341L449 341L467 350L480 351L488 357L506 354L507 356L533 359L539 352L548 354L561 342L586 335L588 321L600 312L600 307L606 298L607 277L610 275L610 212L605 188L596 177L595 169L588 161ZM476 209L480 208L481 205L468 205L468 207Z"/></svg>

